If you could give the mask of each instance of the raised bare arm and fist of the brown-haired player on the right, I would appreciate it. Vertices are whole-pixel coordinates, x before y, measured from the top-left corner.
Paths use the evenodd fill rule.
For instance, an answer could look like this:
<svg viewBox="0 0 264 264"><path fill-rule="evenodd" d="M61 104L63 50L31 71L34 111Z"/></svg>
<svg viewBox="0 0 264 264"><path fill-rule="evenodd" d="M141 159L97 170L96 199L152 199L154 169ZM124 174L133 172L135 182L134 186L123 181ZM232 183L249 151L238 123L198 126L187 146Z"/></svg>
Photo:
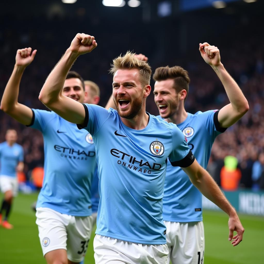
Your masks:
<svg viewBox="0 0 264 264"><path fill-rule="evenodd" d="M249 109L248 101L235 80L229 75L220 60L220 51L207 42L199 44L202 58L215 71L222 82L230 103L220 109L218 121L223 128L228 128L237 122Z"/></svg>

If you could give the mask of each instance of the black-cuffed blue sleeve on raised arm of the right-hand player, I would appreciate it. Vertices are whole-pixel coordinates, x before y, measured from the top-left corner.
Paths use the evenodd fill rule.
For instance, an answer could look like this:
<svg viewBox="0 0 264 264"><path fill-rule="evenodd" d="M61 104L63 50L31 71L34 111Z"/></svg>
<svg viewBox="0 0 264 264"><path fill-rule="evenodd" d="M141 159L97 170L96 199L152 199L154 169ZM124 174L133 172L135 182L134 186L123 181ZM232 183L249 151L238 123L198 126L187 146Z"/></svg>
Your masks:
<svg viewBox="0 0 264 264"><path fill-rule="evenodd" d="M204 124L208 133L215 138L219 134L223 133L227 128L222 128L218 121L219 110L209 110L206 112L200 112L197 117Z"/></svg>

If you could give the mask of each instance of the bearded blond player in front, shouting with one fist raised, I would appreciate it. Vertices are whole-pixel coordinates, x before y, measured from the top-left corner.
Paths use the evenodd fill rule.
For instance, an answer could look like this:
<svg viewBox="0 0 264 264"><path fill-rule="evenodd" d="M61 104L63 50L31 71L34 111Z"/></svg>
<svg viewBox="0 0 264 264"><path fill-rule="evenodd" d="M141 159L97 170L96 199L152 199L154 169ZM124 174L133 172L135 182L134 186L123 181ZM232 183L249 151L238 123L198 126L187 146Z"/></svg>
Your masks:
<svg viewBox="0 0 264 264"><path fill-rule="evenodd" d="M113 61L117 110L83 105L62 95L74 61L96 46L93 36L78 33L39 95L50 109L93 136L100 192L96 263L167 263L162 220L167 158L172 166L182 167L199 190L230 215L233 229L243 229L234 208L197 163L177 126L145 112L151 91L151 68L146 62L130 52Z"/></svg>

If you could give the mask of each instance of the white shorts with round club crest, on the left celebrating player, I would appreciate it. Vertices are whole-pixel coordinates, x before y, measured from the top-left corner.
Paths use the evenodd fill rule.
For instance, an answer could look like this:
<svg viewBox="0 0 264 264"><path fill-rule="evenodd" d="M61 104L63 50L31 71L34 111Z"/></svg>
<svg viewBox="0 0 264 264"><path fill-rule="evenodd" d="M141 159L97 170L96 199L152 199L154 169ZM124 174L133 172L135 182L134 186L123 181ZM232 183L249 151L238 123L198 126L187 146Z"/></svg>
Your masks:
<svg viewBox="0 0 264 264"><path fill-rule="evenodd" d="M55 249L65 249L68 260L83 260L91 237L91 215L72 216L39 207L36 208L36 217L43 256Z"/></svg>

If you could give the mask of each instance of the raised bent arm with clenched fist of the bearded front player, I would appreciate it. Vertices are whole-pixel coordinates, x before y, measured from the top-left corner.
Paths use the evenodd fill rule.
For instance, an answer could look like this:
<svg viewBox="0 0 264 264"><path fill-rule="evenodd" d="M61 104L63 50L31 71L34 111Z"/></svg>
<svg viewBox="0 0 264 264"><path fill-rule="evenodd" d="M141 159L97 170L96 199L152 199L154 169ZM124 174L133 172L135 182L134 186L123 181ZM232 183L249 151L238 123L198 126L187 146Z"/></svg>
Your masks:
<svg viewBox="0 0 264 264"><path fill-rule="evenodd" d="M63 84L78 56L91 52L96 46L97 43L93 36L78 33L40 91L39 100L69 122L82 124L85 110L81 103L62 95Z"/></svg>

